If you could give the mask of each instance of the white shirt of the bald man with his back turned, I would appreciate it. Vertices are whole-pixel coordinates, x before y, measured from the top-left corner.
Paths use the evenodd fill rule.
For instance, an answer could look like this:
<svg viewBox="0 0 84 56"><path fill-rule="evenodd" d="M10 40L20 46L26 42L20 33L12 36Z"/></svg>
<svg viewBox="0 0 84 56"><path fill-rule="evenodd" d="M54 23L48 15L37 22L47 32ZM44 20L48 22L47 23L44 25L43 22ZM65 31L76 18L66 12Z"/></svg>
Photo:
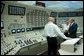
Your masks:
<svg viewBox="0 0 84 56"><path fill-rule="evenodd" d="M48 24L45 25L44 28L44 35L45 37L50 36L50 37L57 37L61 36L64 39L68 39L59 29L57 25L55 25L52 22L49 22Z"/></svg>

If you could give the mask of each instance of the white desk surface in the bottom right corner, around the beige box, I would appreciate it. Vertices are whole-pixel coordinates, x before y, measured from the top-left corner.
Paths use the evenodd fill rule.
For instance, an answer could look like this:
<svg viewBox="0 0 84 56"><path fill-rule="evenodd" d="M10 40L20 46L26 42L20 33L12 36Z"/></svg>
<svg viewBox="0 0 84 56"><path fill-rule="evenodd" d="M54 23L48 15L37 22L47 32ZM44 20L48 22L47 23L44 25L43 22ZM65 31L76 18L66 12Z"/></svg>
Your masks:
<svg viewBox="0 0 84 56"><path fill-rule="evenodd" d="M77 51L75 51L74 53L62 49L59 49L58 51L60 55L83 55L83 43L78 46Z"/></svg>

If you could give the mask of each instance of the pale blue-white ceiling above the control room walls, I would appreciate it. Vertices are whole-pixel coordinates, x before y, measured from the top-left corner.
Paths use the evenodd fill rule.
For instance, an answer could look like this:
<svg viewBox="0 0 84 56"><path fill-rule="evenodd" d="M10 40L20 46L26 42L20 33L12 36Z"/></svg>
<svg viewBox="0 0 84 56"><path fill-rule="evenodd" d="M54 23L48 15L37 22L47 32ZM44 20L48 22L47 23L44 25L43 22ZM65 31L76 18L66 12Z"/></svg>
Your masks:
<svg viewBox="0 0 84 56"><path fill-rule="evenodd" d="M18 3L35 6L36 1L17 1ZM45 3L46 8L58 12L83 10L83 1L39 1Z"/></svg>

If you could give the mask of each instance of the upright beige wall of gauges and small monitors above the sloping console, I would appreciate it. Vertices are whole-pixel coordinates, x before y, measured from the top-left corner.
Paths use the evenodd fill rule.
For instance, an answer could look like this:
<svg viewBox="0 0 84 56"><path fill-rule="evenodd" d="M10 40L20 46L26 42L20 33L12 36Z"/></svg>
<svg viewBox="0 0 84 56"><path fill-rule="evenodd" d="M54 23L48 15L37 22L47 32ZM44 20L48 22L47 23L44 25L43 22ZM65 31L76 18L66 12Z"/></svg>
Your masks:
<svg viewBox="0 0 84 56"><path fill-rule="evenodd" d="M33 30L32 28L43 28L48 23L48 17L52 11L36 6L19 4L17 2L3 1L2 3L5 6L1 14L1 27L5 29L6 36L26 33Z"/></svg>

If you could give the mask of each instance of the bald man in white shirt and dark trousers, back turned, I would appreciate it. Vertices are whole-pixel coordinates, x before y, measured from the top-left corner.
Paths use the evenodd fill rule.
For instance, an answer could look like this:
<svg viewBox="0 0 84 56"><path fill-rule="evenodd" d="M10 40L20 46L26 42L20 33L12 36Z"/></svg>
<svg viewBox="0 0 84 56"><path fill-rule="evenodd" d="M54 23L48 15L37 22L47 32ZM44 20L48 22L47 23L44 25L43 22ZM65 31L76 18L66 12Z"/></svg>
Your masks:
<svg viewBox="0 0 84 56"><path fill-rule="evenodd" d="M44 34L47 37L47 42L48 42L48 55L51 55L51 52L53 52L53 54L56 55L58 35L60 35L64 39L69 39L60 31L58 26L55 25L53 22L54 22L54 18L49 17L49 22L48 24L45 25L44 28Z"/></svg>

